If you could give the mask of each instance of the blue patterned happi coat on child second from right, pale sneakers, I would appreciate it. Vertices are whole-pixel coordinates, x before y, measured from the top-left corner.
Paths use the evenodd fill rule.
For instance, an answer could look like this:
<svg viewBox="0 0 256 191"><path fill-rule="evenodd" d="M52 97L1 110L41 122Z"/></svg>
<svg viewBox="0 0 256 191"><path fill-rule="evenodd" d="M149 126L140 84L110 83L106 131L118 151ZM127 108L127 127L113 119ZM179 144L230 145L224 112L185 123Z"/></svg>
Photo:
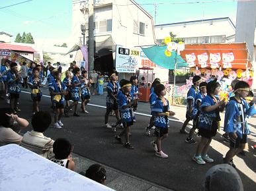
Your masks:
<svg viewBox="0 0 256 191"><path fill-rule="evenodd" d="M216 96L215 96L216 97ZM220 99L216 97L218 102L220 102ZM210 95L206 95L202 99L202 105L200 106L200 115L199 115L199 123L198 126L200 128L204 128L206 130L212 130L212 123L213 121L220 121L220 111L214 110L206 112L203 110L204 107L208 107L211 105L215 105L214 99Z"/></svg>

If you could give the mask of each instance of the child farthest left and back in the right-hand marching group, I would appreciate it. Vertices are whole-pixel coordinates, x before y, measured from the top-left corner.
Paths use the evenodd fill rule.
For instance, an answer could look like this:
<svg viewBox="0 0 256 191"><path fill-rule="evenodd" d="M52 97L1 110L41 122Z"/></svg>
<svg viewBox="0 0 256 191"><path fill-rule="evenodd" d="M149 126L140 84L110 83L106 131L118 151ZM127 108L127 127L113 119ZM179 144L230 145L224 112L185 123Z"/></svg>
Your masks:
<svg viewBox="0 0 256 191"><path fill-rule="evenodd" d="M198 86L201 82L200 76L194 76L192 79L193 85L189 89L187 94L187 113L186 113L186 121L183 123L183 126L180 130L181 133L188 134L187 130L185 130L189 121L192 120L192 112L194 109L194 99L196 98L196 94L198 93Z"/></svg>

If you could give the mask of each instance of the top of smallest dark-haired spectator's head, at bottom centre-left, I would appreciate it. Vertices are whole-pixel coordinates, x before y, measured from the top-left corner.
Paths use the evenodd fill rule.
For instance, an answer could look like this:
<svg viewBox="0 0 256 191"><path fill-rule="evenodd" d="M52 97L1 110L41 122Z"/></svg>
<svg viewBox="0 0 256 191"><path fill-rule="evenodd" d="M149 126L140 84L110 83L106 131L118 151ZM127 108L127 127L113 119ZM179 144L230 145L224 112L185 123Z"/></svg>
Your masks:
<svg viewBox="0 0 256 191"><path fill-rule="evenodd" d="M94 164L86 170L85 177L95 180L101 184L106 184L106 170L99 164Z"/></svg>

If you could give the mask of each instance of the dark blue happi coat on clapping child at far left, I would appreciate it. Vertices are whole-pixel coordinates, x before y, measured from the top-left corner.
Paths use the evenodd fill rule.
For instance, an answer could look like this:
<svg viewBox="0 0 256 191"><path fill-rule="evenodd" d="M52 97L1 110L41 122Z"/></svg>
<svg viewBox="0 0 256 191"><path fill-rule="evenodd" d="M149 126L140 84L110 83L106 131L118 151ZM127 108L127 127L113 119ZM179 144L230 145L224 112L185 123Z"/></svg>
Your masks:
<svg viewBox="0 0 256 191"><path fill-rule="evenodd" d="M21 93L21 83L22 83L22 78L19 78L18 80L13 80L16 78L17 74L14 74L9 70L7 72L7 84L8 84L8 92L10 94L20 94Z"/></svg>

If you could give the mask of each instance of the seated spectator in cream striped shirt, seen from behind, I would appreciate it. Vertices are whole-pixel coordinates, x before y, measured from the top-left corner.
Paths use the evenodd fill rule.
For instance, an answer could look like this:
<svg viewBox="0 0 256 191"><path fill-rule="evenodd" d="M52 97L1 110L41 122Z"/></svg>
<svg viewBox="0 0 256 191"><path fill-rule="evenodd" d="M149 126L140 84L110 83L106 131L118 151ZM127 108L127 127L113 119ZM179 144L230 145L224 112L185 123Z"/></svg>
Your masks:
<svg viewBox="0 0 256 191"><path fill-rule="evenodd" d="M44 136L43 132L47 130L52 123L52 117L47 111L39 111L32 116L32 131L24 134L21 146L50 159L54 156L53 145L54 140Z"/></svg>

